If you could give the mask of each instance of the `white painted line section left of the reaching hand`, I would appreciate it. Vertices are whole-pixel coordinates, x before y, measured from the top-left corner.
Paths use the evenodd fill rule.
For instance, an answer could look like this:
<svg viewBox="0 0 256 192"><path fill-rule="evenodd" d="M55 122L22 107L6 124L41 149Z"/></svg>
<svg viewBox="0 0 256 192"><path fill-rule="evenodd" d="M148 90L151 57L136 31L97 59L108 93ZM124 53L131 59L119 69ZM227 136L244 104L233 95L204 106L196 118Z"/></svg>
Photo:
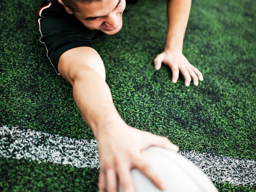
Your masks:
<svg viewBox="0 0 256 192"><path fill-rule="evenodd" d="M99 168L96 140L76 140L17 127L0 127L0 156L30 158L78 168Z"/></svg>

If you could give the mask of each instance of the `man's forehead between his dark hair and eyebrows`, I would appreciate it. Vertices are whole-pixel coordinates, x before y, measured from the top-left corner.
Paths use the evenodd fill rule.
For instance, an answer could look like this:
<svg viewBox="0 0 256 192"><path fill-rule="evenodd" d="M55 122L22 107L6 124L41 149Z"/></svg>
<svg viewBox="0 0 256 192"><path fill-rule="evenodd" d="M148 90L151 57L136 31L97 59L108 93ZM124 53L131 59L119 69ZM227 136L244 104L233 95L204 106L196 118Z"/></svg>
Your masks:
<svg viewBox="0 0 256 192"><path fill-rule="evenodd" d="M79 15L83 18L99 17L110 14L119 4L120 0L101 0L91 3L78 2Z"/></svg>

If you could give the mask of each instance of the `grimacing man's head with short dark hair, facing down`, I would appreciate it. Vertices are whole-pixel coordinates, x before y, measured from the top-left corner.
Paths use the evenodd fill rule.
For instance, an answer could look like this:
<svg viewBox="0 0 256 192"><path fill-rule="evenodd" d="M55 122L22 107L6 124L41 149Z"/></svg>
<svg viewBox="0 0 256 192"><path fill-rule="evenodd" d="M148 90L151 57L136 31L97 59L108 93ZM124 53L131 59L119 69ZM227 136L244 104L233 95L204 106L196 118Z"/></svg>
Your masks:
<svg viewBox="0 0 256 192"><path fill-rule="evenodd" d="M88 29L98 29L112 35L122 28L125 0L58 0L58 2Z"/></svg>

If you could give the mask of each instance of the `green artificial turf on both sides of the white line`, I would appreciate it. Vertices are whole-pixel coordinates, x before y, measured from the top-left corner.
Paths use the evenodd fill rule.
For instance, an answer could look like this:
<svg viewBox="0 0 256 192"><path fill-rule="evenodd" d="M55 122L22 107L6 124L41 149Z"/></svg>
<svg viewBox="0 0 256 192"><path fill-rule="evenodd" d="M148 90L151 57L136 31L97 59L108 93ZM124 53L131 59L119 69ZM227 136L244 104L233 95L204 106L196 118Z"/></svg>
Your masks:
<svg viewBox="0 0 256 192"><path fill-rule="evenodd" d="M72 86L55 73L39 42L40 3L0 2L0 126L93 139L73 100ZM128 10L118 34L94 40L125 122L167 136L181 150L256 160L256 2L192 2L183 53L204 81L189 87L182 75L172 83L167 66L159 71L153 66L164 49L166 1L140 0ZM40 191L43 181L42 190L63 186L96 191L97 170L4 158L1 166L10 179L1 171L0 188ZM76 179L83 180L86 189L76 186ZM218 188L256 191L255 186Z"/></svg>

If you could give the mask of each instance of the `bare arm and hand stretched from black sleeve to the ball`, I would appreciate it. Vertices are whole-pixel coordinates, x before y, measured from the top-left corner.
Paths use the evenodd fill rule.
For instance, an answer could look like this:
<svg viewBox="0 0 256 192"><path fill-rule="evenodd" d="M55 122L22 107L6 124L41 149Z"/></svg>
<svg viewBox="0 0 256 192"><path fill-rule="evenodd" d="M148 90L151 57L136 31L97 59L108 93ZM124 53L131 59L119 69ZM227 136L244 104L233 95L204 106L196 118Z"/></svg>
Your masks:
<svg viewBox="0 0 256 192"><path fill-rule="evenodd" d="M173 151L178 147L167 138L132 128L118 114L99 54L89 47L68 50L60 57L58 71L73 86L74 100L82 118L98 141L100 192L117 192L117 179L124 192L135 192L130 170L138 168L164 189L160 175L142 158L142 150L160 146Z"/></svg>

